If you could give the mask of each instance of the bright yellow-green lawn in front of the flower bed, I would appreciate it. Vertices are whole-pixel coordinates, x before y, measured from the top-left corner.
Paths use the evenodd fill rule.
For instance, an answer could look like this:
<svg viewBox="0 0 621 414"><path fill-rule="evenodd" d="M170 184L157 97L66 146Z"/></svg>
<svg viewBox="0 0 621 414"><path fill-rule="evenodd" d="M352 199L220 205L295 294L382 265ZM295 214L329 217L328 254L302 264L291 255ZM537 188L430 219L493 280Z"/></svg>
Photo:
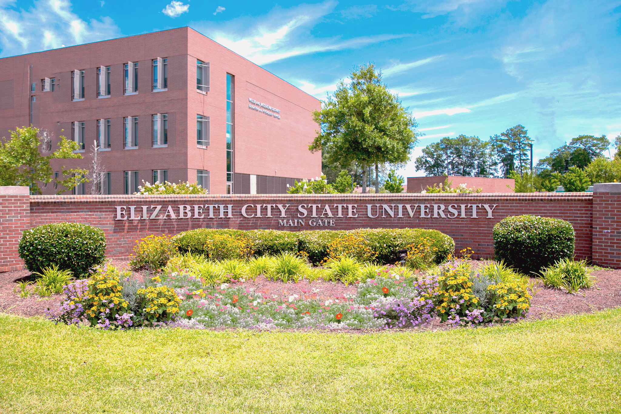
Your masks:
<svg viewBox="0 0 621 414"><path fill-rule="evenodd" d="M494 328L108 332L0 315L4 413L619 413L621 309Z"/></svg>

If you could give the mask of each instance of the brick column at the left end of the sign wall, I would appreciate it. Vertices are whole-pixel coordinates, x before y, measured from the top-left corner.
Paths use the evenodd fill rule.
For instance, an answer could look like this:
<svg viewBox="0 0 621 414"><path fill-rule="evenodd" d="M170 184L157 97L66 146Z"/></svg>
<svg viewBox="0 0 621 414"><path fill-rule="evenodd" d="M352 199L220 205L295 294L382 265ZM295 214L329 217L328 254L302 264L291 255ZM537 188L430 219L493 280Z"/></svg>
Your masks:
<svg viewBox="0 0 621 414"><path fill-rule="evenodd" d="M24 261L17 254L22 232L30 228L28 187L0 186L0 272L21 270Z"/></svg>

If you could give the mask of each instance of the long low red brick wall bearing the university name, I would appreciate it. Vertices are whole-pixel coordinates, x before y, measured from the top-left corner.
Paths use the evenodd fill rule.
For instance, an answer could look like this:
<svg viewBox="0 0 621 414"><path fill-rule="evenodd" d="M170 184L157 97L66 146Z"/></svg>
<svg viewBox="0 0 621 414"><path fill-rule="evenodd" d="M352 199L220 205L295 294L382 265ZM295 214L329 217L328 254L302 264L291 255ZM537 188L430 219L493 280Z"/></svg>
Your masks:
<svg viewBox="0 0 621 414"><path fill-rule="evenodd" d="M494 224L520 214L567 220L576 230L577 258L621 267L617 253L621 184L600 186L609 187L594 194L30 196L24 205L15 195L0 195L2 243L6 246L0 270L19 266L15 246L20 232L45 223L76 222L101 228L106 232L109 256L127 256L135 240L147 235L175 235L201 227L289 231L419 227L450 235L456 250L470 247L475 257L491 257ZM20 197L23 202L28 199ZM25 205L29 209L22 211ZM5 219L9 217L5 214L20 218ZM12 222L7 220L18 220L19 224L9 232Z"/></svg>

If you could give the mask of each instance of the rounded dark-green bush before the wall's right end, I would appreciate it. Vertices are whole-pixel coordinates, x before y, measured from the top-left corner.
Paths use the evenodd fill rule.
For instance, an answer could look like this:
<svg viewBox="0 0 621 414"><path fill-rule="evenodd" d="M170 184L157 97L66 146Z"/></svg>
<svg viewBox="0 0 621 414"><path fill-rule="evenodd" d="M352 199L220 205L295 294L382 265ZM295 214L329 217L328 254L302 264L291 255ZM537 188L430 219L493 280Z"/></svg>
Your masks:
<svg viewBox="0 0 621 414"><path fill-rule="evenodd" d="M514 215L496 223L492 233L497 259L526 274L573 258L576 232L559 218Z"/></svg>

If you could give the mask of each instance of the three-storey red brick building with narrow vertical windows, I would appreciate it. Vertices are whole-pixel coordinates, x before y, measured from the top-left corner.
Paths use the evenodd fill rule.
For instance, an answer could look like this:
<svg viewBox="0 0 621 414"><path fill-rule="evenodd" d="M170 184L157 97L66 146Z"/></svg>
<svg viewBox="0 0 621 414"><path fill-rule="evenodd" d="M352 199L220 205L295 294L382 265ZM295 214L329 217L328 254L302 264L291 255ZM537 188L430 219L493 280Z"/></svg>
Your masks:
<svg viewBox="0 0 621 414"><path fill-rule="evenodd" d="M99 147L103 194L142 181L199 182L212 194L286 192L319 176L308 150L320 102L189 27L0 59L0 137L30 125L61 135L89 168ZM90 184L73 194L89 194ZM55 194L55 183L43 194ZM70 194L69 192L68 194Z"/></svg>

